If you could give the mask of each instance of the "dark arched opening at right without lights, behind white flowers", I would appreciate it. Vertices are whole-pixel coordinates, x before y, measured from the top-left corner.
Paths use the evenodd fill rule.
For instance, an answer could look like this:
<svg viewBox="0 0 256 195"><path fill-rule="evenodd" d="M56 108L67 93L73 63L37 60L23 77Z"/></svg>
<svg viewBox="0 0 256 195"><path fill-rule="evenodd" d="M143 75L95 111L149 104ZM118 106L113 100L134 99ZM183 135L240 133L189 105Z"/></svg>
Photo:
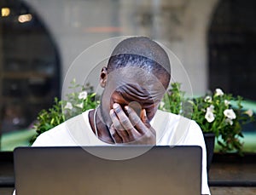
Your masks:
<svg viewBox="0 0 256 195"><path fill-rule="evenodd" d="M256 1L220 1L208 32L209 87L256 100Z"/></svg>

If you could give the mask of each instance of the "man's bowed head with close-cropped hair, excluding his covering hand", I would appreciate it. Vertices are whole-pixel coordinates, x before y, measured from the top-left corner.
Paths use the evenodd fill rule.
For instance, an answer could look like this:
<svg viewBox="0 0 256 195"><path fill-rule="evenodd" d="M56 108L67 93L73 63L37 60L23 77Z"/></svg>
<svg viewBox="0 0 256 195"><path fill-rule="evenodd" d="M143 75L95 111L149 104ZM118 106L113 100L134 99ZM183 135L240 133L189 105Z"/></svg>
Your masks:
<svg viewBox="0 0 256 195"><path fill-rule="evenodd" d="M168 55L158 43L148 37L131 37L120 42L101 72L104 121L110 125L108 112L114 102L120 106L136 105L135 110L145 109L151 120L170 78Z"/></svg>

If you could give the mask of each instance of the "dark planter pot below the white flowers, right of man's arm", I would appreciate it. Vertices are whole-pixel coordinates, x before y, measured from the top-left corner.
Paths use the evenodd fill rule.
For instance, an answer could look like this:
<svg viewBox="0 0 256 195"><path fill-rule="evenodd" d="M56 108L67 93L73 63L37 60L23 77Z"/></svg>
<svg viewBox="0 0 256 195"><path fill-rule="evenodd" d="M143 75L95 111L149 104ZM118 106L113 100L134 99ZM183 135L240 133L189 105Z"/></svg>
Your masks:
<svg viewBox="0 0 256 195"><path fill-rule="evenodd" d="M204 133L203 135L207 148L207 172L209 172L214 153L215 135L213 133Z"/></svg>

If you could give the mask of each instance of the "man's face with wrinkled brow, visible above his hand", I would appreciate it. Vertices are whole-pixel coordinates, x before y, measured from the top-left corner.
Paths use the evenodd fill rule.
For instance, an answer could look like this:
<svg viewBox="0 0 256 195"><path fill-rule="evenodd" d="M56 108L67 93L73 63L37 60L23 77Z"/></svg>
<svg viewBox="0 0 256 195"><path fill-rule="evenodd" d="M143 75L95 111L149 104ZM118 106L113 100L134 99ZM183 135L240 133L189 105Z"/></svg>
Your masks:
<svg viewBox="0 0 256 195"><path fill-rule="evenodd" d="M140 77L134 76L135 74L139 74ZM162 83L153 79L151 75L131 72L131 70L115 72L111 77L108 76L108 82L102 94L103 122L108 127L112 124L109 112L113 109L113 103L118 103L124 111L125 106L130 106L138 116L141 116L144 109L148 120L151 121L165 92L166 89Z"/></svg>

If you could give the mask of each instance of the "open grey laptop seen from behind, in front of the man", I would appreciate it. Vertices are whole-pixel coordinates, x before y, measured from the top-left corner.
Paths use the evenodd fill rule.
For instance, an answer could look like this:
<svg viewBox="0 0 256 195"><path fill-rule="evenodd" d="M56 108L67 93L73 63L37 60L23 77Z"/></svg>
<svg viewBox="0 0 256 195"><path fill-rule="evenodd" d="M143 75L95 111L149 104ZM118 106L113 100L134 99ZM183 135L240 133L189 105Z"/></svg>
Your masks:
<svg viewBox="0 0 256 195"><path fill-rule="evenodd" d="M15 189L17 195L199 195L201 158L200 146L18 147Z"/></svg>

